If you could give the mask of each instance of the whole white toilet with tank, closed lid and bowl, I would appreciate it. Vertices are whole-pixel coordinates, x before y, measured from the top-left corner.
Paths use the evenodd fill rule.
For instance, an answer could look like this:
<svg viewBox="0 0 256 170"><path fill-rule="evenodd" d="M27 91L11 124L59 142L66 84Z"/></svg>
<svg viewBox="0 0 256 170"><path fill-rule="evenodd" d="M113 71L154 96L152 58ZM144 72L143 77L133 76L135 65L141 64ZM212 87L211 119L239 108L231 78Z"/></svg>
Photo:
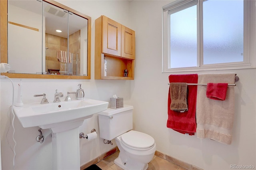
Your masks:
<svg viewBox="0 0 256 170"><path fill-rule="evenodd" d="M98 113L100 138L116 140L120 150L114 163L124 170L146 170L156 151L154 138L131 130L133 106ZM130 131L129 131L130 130Z"/></svg>

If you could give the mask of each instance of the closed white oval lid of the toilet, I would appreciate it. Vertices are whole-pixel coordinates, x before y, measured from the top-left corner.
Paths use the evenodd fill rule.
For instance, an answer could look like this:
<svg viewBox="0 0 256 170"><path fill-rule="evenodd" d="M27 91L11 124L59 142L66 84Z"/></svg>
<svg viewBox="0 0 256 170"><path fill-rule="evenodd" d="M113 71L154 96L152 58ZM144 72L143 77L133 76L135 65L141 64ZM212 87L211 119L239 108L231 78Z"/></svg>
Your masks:
<svg viewBox="0 0 256 170"><path fill-rule="evenodd" d="M154 145L155 140L152 136L131 130L121 135L121 141L133 148L150 148Z"/></svg>

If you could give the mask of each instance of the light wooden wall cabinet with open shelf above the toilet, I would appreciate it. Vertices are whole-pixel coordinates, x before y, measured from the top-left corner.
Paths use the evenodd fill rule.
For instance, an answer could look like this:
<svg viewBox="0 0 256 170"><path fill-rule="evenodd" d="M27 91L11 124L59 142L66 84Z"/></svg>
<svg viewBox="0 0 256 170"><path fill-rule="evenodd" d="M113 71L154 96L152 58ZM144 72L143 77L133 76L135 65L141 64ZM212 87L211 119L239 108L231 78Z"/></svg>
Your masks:
<svg viewBox="0 0 256 170"><path fill-rule="evenodd" d="M104 59L107 76L104 76ZM135 32L100 16L95 20L95 79L134 79ZM124 70L128 70L124 77Z"/></svg>

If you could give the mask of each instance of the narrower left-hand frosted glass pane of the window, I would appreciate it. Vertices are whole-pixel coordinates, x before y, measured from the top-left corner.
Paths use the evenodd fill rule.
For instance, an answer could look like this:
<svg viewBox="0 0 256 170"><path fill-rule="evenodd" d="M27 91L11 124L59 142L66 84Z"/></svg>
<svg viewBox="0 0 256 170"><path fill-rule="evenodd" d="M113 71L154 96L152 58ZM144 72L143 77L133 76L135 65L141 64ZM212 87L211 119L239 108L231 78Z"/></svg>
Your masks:
<svg viewBox="0 0 256 170"><path fill-rule="evenodd" d="M170 68L197 66L196 5L170 15Z"/></svg>

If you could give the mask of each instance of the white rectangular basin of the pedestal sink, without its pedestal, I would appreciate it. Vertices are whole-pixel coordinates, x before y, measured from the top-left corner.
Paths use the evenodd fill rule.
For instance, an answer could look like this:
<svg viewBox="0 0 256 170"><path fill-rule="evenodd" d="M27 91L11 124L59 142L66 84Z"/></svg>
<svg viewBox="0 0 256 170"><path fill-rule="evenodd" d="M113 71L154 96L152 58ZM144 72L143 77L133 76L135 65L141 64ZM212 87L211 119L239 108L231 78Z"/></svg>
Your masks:
<svg viewBox="0 0 256 170"><path fill-rule="evenodd" d="M21 107L14 106L13 110L23 127L38 126L46 129L83 121L107 107L108 102L83 99L47 104L32 103Z"/></svg>

